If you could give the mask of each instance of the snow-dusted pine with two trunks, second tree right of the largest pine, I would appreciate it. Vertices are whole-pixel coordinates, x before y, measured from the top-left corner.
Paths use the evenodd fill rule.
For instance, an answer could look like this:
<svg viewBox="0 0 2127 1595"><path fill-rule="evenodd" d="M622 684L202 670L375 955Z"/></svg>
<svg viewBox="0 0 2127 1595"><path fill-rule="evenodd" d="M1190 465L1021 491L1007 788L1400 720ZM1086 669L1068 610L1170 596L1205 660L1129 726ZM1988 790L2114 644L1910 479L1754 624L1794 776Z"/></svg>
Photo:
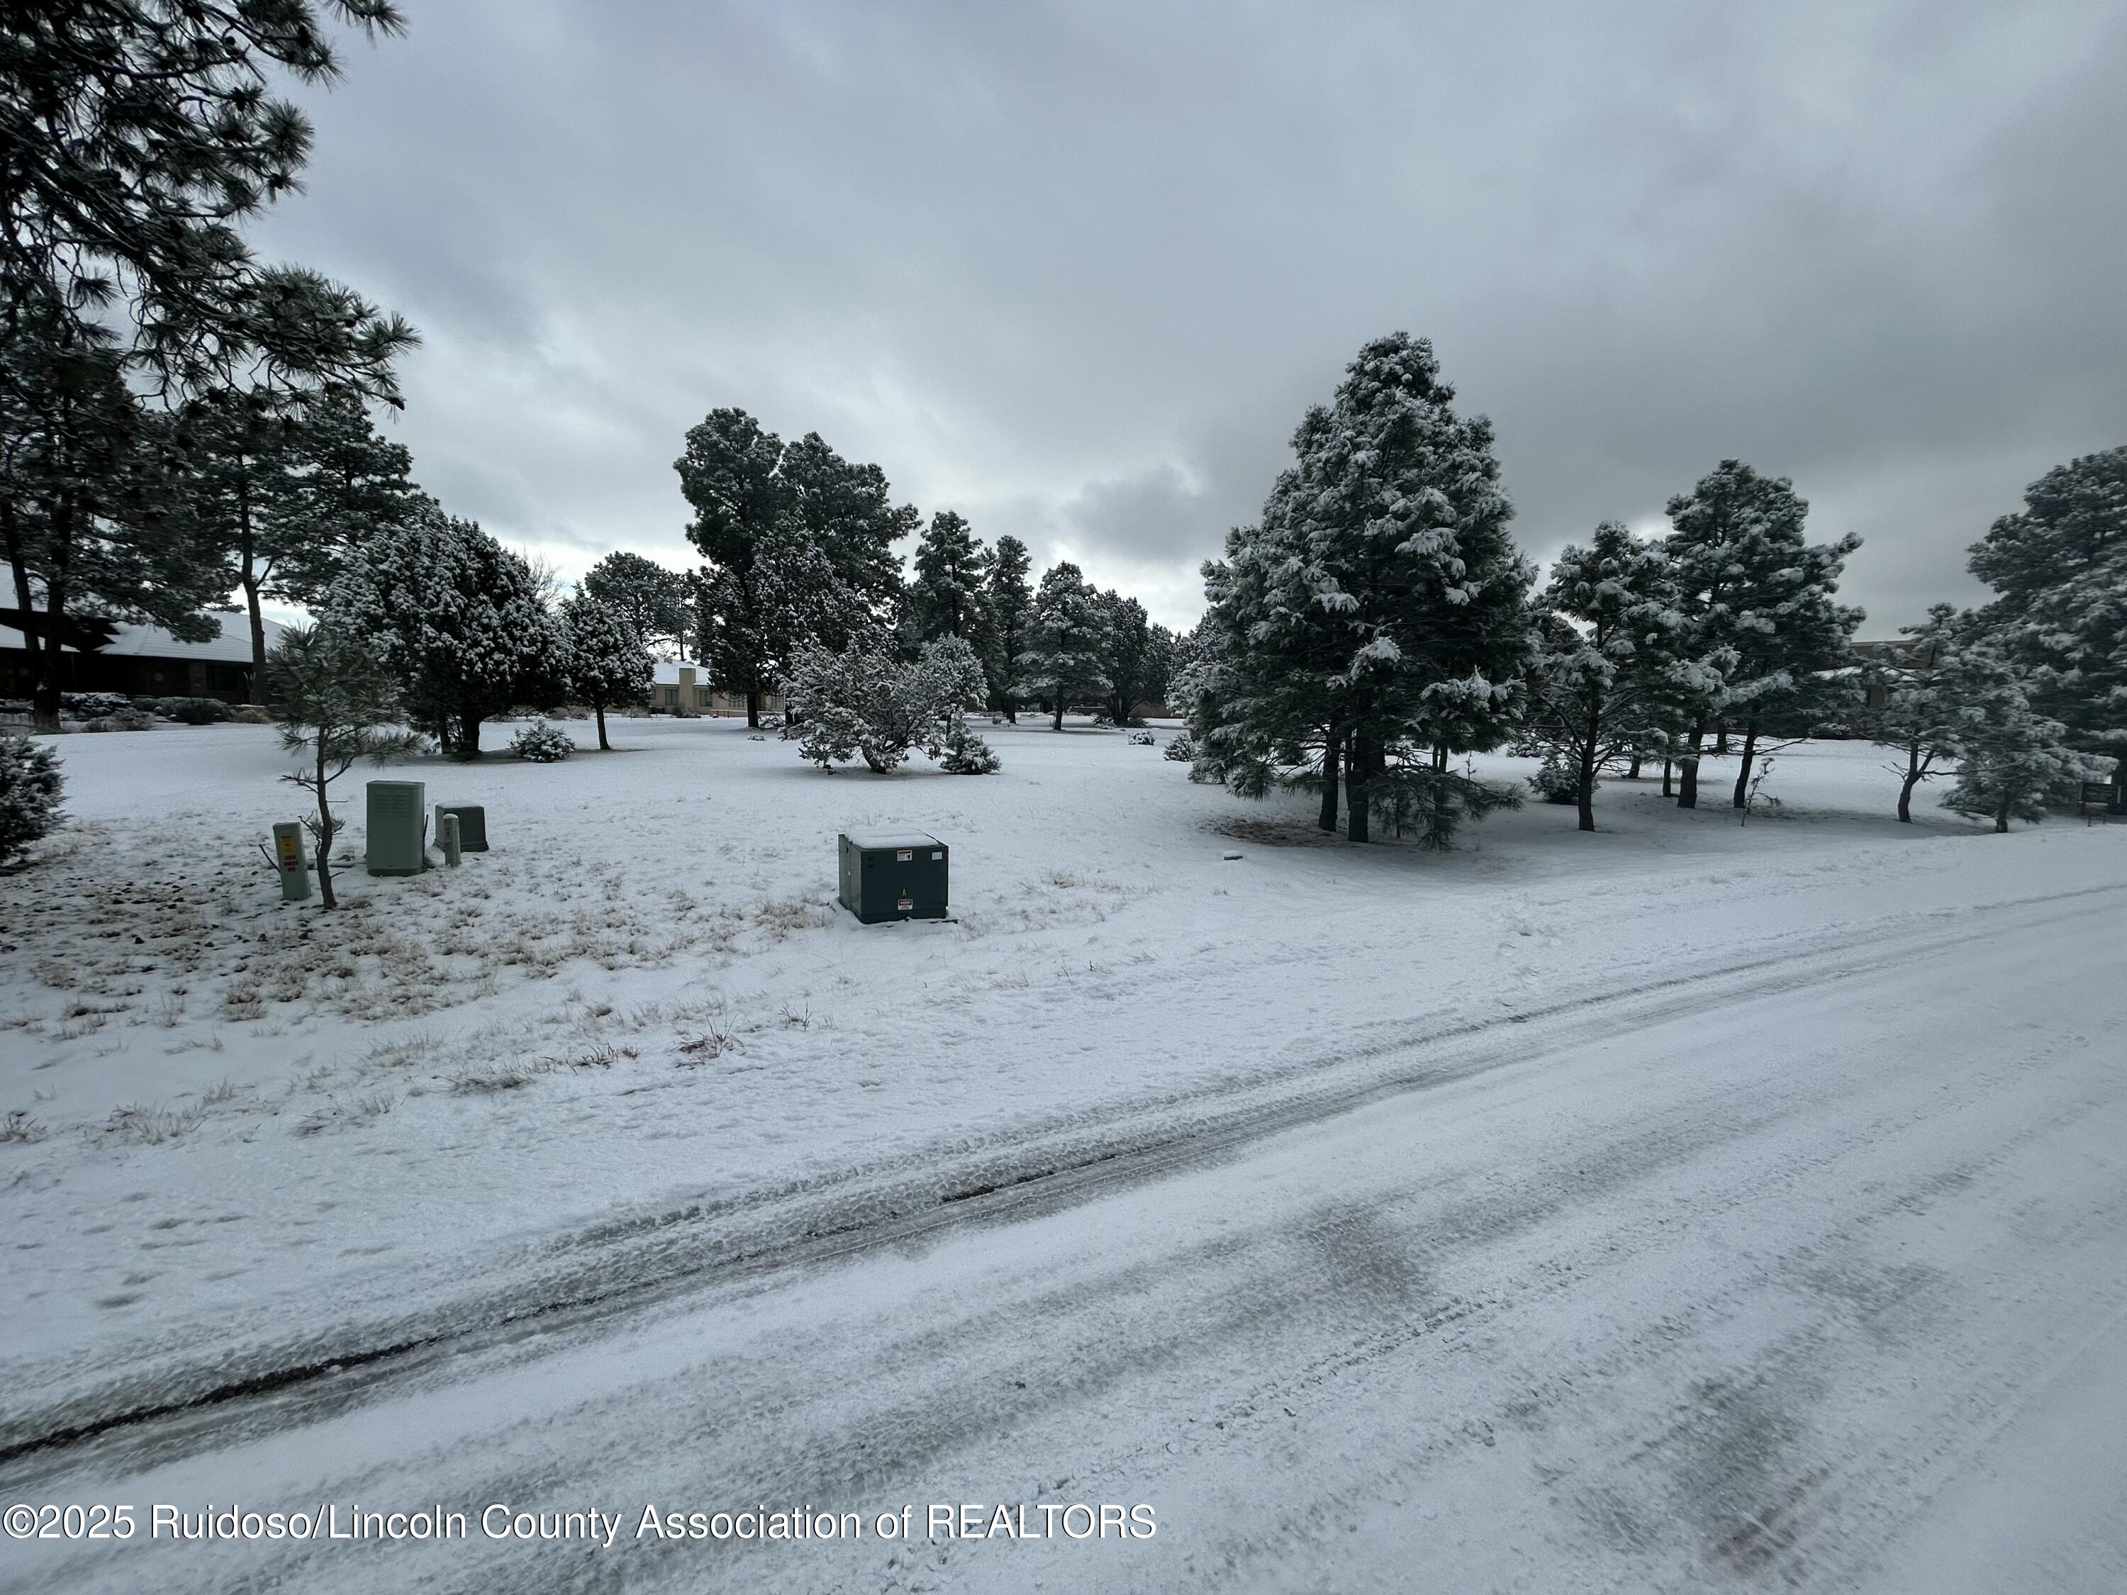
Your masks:
<svg viewBox="0 0 2127 1595"><path fill-rule="evenodd" d="M1734 804L1751 789L1751 766L1770 725L1806 723L1825 712L1848 659L1861 610L1836 602L1846 555L1861 538L1808 542L1808 504L1787 476L1761 476L1740 459L1723 459L1689 493L1668 504L1663 544L1682 591L1689 621L1687 653L1699 659L1734 649L1719 715L1742 721L1742 759ZM1680 753L1680 808L1697 808L1699 746L1708 721L1687 732Z"/></svg>

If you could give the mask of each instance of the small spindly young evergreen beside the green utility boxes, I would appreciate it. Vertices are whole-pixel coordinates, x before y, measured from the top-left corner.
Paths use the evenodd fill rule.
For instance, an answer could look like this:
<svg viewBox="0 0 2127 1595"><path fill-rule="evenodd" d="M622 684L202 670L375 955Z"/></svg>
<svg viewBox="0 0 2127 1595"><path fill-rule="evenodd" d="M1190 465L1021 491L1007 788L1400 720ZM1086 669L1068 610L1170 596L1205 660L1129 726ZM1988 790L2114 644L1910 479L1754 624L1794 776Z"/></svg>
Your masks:
<svg viewBox="0 0 2127 1595"><path fill-rule="evenodd" d="M332 844L345 829L332 812L332 783L355 761L385 763L421 751L421 738L398 725L398 685L385 664L362 642L321 625L281 634L266 655L272 678L268 698L281 727L281 746L304 755L302 768L281 776L317 802L304 819L317 861L317 897L338 908L332 893Z"/></svg>

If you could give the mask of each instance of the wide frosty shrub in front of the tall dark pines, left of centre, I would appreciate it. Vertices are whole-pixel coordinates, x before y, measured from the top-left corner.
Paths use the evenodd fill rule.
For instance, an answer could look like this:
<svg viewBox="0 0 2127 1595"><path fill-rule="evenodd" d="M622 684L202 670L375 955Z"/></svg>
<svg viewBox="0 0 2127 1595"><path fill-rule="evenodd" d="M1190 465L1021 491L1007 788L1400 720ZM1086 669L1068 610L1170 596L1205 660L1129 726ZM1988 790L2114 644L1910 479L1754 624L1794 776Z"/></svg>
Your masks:
<svg viewBox="0 0 2127 1595"><path fill-rule="evenodd" d="M902 664L885 634L857 638L840 653L808 647L783 693L802 723L783 736L795 736L798 751L821 770L861 757L874 774L887 774L910 749L942 757L953 729L966 734L964 710L983 691L983 666L957 636L925 642L915 664Z"/></svg>

